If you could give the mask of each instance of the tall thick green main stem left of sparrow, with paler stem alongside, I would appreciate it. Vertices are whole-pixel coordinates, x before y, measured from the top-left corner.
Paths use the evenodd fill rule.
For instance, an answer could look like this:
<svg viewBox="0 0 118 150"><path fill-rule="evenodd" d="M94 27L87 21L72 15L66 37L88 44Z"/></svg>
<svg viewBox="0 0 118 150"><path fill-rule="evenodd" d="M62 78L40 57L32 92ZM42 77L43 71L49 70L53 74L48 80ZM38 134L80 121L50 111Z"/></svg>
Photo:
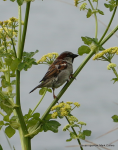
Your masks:
<svg viewBox="0 0 118 150"><path fill-rule="evenodd" d="M20 6L19 6L20 7ZM18 9L18 13L21 13L21 8ZM25 12L25 21L24 21L24 28L23 28L23 35L22 35L22 42L20 42L20 34L19 34L19 48L17 51L17 57L19 59L22 59L23 55L23 49L24 49L24 43L26 38L26 31L27 31L27 24L28 24L28 16L29 16L29 10L30 10L30 2L26 3L26 12ZM21 20L21 14L19 14L19 19ZM21 23L19 24L19 33L21 33ZM21 45L21 46L20 46ZM31 139L29 137L24 137L24 135L28 134L27 127L24 121L24 117L21 110L21 104L20 104L20 71L16 70L16 105L19 107L15 108L18 121L20 123L19 127L19 134L20 134L20 140L21 140L21 146L22 150L31 150Z"/></svg>

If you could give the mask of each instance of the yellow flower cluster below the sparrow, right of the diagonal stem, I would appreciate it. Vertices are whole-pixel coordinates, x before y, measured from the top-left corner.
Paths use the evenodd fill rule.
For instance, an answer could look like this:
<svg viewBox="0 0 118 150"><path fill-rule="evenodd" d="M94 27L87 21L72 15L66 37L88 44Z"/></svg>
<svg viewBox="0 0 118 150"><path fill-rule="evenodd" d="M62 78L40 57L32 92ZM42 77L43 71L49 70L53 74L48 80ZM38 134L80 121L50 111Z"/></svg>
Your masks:
<svg viewBox="0 0 118 150"><path fill-rule="evenodd" d="M60 116L60 117L68 116L68 114L73 110L71 104L75 105L74 108L80 106L78 102L75 102L75 103L73 102L63 103L62 102L51 108L51 111L55 110L55 112L52 113L51 117L56 118L57 116Z"/></svg>

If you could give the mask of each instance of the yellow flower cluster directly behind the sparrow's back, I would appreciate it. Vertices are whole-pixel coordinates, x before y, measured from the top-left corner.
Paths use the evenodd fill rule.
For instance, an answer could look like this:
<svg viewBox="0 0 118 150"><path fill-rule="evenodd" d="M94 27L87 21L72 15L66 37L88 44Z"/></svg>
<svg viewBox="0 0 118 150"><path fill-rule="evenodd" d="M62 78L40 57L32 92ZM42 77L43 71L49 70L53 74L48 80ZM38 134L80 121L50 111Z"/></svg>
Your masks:
<svg viewBox="0 0 118 150"><path fill-rule="evenodd" d="M48 53L46 55L43 55L41 57L40 60L37 61L37 64L43 64L43 63L46 63L46 64L52 64L53 61L59 56L58 53L56 52L52 52L52 53Z"/></svg>

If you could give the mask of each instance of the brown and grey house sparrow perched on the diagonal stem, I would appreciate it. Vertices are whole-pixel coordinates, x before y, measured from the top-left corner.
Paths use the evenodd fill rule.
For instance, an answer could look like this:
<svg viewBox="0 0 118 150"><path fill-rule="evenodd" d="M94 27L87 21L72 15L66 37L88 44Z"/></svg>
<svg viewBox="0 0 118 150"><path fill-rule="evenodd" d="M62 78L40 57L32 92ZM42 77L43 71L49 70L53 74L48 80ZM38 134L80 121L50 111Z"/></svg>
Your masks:
<svg viewBox="0 0 118 150"><path fill-rule="evenodd" d="M60 87L66 81L69 82L73 73L73 60L77 57L77 54L73 54L72 52L65 51L61 53L56 60L50 65L47 73L40 81L41 83L36 86L33 92L37 88L42 87L51 87L53 89L53 97L56 98L54 94L54 89Z"/></svg>

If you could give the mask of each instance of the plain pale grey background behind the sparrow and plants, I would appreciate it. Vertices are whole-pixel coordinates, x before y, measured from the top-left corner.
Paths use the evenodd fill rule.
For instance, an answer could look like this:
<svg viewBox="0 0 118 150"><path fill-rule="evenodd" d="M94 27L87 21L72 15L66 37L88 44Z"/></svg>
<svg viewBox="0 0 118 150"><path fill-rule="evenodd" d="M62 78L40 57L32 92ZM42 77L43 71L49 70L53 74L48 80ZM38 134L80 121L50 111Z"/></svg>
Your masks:
<svg viewBox="0 0 118 150"><path fill-rule="evenodd" d="M100 20L98 39L102 36L105 28L110 20L112 13L109 12L103 5L103 1L99 0L99 9L104 11L105 15L99 15ZM89 5L88 5L89 7ZM17 3L9 0L0 2L0 21L9 19L10 17L17 17ZM25 4L22 6L22 18L24 20ZM118 16L118 12L116 13ZM102 22L102 23L101 23ZM83 45L81 36L94 37L95 35L95 20L94 17L86 18L86 11L80 11L78 7L74 6L73 0L36 0L31 3L28 30L24 50L27 52L39 50L39 53L34 58L39 60L42 55L50 52L72 51L77 53L78 47ZM104 25L105 24L105 25ZM117 17L110 29L118 24ZM109 31L110 32L110 31ZM118 32L117 36L112 38L104 44L104 48L118 46ZM79 56L74 61L74 71L79 64L85 59L86 55ZM118 57L118 56L117 56ZM118 64L117 57L114 57L113 62ZM112 116L118 114L118 86L111 81L115 75L112 71L107 70L107 62L93 61L92 59L86 64L80 74L77 76L72 85L64 93L60 101L79 102L80 108L73 111L79 121L87 123L83 129L92 131L92 135L86 139L96 144L109 144L117 140L117 131L114 131L106 136L96 139L98 136L110 131L117 126L112 121ZM29 108L33 109L38 103L41 96L38 90L29 94L35 86L39 84L46 73L48 67L46 65L33 66L27 72L21 72L21 105L23 114L26 114ZM63 86L62 86L63 87ZM61 90L55 90L56 95ZM47 93L41 105L36 112L44 113L53 97L51 93ZM2 117L0 116L0 119ZM66 142L69 138L68 132L63 132L63 127L67 124L65 119L58 121L62 124L59 127L59 133L55 134L51 131L47 133L40 133L32 139L32 150L76 150L78 147L69 147L77 145L76 140ZM18 132L10 139L12 145L16 150L21 150ZM82 144L85 144L81 140ZM5 139L2 131L0 131L0 143L4 150L9 150L9 145ZM114 147L106 147L116 150L118 142L113 144ZM95 147L83 147L84 150L97 149Z"/></svg>

